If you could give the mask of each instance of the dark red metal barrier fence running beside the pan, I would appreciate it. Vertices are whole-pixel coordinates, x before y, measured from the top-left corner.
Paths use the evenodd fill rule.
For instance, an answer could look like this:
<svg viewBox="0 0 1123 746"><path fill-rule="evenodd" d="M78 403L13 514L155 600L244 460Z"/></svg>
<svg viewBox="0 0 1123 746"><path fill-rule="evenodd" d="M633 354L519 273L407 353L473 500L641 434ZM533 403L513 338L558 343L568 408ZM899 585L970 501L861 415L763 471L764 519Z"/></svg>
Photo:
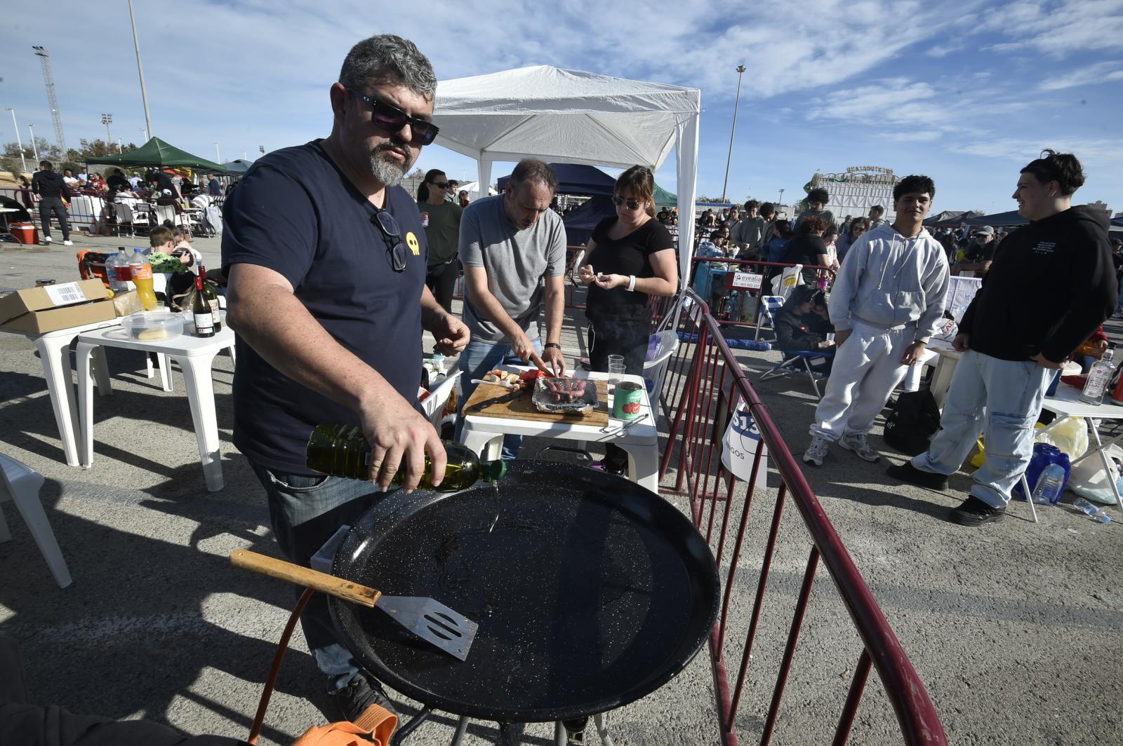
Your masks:
<svg viewBox="0 0 1123 746"><path fill-rule="evenodd" d="M795 663L801 630L805 627L804 616L807 613L815 571L822 563L833 581L832 587L838 592L838 599L833 602L841 601L849 614L860 647L853 651L855 660L851 664L853 673L844 700L841 691L838 696L840 706L837 706L836 710L839 715L832 743L844 744L849 738L866 680L873 666L882 680L900 724L901 740L897 743L930 746L947 744L940 719L924 684L889 628L819 499L804 479L768 411L722 339L718 322L709 314L704 302L695 293L687 291L686 297L691 303L682 310L676 329L683 342L668 367L664 395L660 397L663 411L670 423L660 464L660 478L674 464L674 488L664 488L663 491L690 498L694 524L710 541L722 572L724 597L719 621L710 638L721 743L725 746L739 744L738 725L749 722L751 729L759 729L760 743L768 744L777 724L784 721L780 710L784 690ZM754 500L767 506L767 498L770 497L767 492L772 492L770 489L755 487L757 475L768 467L763 462L761 450L757 449L752 461L752 475L748 482L734 478L721 464L722 434L730 420L737 416L739 398L747 405L759 431L760 440L767 446L768 457L779 472L780 485L766 537L763 536L763 532L758 536L748 531ZM772 696L769 698L767 693L760 694L757 697L759 701L756 701L749 694L760 684L760 672L757 671L757 675L751 680L747 674L754 656L759 667L759 661L768 655L768 651L760 646L755 651L754 643L760 639L763 619L776 618L777 593L774 590L768 597L767 600L773 606L766 608L768 607L765 602L766 589L770 574L775 574L772 570L777 552L777 538L784 507L788 503L795 505L802 524L810 535L810 553L786 639L782 645L779 671L772 688ZM791 523L788 521L787 525ZM793 543L798 543L800 538L793 536L791 529L785 531L784 537L785 551L789 550ZM749 543L758 538L764 540L759 565L748 559ZM723 562L728 569L723 567ZM751 572L757 574L756 593L751 614L748 615L742 614L741 609L731 614L732 590L738 578L738 567L742 563L749 565L749 570L742 574ZM821 599L821 602L830 604L831 599ZM747 619L743 618L746 616ZM778 625L779 638L784 637L784 626ZM813 655L812 652L804 651L800 662L806 666L810 658L810 666L813 667L821 660L836 655L839 642L832 638L831 650L815 648ZM777 643L776 647L779 646ZM732 679L729 676L730 670L734 672ZM803 673L800 676L801 685L805 685L809 675L825 679L831 674L821 671ZM763 720L748 715L741 715L739 718L742 709L756 706L765 711ZM812 737L811 734L801 733L794 742L791 735L785 740L804 744L811 743ZM866 742L869 738L859 740ZM896 738L893 740L896 742Z"/></svg>

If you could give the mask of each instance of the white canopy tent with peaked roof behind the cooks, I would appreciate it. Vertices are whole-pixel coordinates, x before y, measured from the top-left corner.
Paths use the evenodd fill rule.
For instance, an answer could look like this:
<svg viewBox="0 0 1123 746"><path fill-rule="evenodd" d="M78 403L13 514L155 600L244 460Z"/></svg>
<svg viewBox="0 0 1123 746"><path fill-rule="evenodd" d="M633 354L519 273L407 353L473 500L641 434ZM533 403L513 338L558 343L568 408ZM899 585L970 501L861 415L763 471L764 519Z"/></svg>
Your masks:
<svg viewBox="0 0 1123 746"><path fill-rule="evenodd" d="M694 246L701 112L697 89L538 65L438 83L433 121L438 145L478 162L481 184L491 184L495 162L656 171L675 148L682 285Z"/></svg>

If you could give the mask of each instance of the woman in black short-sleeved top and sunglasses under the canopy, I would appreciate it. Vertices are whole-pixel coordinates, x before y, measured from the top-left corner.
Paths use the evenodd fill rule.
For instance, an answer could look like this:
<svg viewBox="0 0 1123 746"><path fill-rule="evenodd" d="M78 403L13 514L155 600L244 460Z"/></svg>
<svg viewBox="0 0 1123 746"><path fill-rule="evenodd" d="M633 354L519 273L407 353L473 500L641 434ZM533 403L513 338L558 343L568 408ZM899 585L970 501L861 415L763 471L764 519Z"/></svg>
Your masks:
<svg viewBox="0 0 1123 746"><path fill-rule="evenodd" d="M651 333L650 296L678 289L675 243L654 220L654 191L651 169L632 166L620 174L612 196L617 217L593 229L585 266L578 270L588 286L585 316L593 370L608 370L609 356L621 354L624 372L642 376ZM627 473L628 453L609 444L603 468Z"/></svg>

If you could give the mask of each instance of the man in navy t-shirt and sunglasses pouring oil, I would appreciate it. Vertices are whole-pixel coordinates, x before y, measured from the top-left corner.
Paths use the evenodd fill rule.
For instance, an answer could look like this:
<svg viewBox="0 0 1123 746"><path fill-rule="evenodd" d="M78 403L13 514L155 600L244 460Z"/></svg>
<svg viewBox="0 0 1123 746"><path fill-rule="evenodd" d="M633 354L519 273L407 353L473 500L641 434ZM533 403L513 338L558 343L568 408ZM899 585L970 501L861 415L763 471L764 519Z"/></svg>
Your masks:
<svg viewBox="0 0 1123 746"><path fill-rule="evenodd" d="M227 322L238 333L234 443L265 487L281 550L303 565L399 469L407 490L427 455L433 482L444 477L445 449L414 406L421 330L448 354L469 334L424 286L424 230L417 203L398 186L436 137L436 86L412 42L358 43L331 85L331 133L257 160L225 205ZM369 482L305 466L308 438L321 423L363 429ZM336 638L326 597L301 621L346 719L372 703L390 706Z"/></svg>

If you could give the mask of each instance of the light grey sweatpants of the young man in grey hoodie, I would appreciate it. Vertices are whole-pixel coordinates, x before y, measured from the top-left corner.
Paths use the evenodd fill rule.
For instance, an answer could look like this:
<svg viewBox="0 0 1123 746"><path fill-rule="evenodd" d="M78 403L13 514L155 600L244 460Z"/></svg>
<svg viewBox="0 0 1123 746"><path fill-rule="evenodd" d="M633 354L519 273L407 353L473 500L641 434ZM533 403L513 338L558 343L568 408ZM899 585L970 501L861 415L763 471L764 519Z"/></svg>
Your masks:
<svg viewBox="0 0 1123 746"><path fill-rule="evenodd" d="M868 433L874 418L904 378L901 365L916 337L915 324L884 329L858 322L834 353L827 392L815 409L811 434L834 442L843 435Z"/></svg>

